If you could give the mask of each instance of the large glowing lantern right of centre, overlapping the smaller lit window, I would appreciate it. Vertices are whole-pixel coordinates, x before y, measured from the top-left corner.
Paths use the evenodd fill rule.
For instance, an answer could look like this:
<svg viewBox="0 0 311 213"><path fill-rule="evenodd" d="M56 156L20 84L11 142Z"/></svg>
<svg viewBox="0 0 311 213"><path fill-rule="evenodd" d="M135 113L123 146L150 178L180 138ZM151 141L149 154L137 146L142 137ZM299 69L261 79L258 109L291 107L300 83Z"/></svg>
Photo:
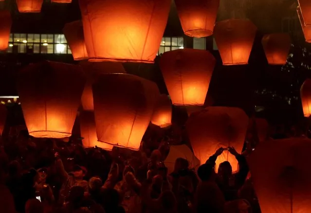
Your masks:
<svg viewBox="0 0 311 213"><path fill-rule="evenodd" d="M173 105L203 105L215 63L214 56L205 50L163 53L160 68Z"/></svg>

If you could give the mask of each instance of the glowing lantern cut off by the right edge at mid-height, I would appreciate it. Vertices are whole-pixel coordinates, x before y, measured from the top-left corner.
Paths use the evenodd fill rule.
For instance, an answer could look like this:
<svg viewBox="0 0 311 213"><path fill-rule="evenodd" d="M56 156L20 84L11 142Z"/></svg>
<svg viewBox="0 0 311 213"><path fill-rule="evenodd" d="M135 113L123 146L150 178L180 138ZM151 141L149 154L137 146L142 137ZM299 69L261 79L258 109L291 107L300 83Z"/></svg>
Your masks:
<svg viewBox="0 0 311 213"><path fill-rule="evenodd" d="M311 78L305 80L300 88L300 98L305 117L311 115Z"/></svg>

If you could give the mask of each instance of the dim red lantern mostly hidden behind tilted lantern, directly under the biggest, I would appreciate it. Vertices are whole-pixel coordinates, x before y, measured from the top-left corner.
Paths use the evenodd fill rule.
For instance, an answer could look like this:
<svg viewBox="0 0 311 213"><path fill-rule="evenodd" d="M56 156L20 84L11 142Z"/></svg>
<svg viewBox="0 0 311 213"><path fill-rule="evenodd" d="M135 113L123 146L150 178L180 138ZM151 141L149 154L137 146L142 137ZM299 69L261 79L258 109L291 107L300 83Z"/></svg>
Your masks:
<svg viewBox="0 0 311 213"><path fill-rule="evenodd" d="M87 75L87 83L85 84L81 102L84 110L94 110L92 84L98 75L102 73L125 73L124 67L117 62L88 62L81 61L80 66Z"/></svg>

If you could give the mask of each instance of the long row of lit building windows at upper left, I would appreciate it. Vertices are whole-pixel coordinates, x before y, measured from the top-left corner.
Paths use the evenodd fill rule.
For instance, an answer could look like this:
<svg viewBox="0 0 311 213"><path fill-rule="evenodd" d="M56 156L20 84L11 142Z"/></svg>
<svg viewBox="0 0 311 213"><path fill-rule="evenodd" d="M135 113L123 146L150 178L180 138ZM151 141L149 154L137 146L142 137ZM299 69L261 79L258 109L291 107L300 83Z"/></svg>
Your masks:
<svg viewBox="0 0 311 213"><path fill-rule="evenodd" d="M71 54L63 34L10 34L7 52Z"/></svg>

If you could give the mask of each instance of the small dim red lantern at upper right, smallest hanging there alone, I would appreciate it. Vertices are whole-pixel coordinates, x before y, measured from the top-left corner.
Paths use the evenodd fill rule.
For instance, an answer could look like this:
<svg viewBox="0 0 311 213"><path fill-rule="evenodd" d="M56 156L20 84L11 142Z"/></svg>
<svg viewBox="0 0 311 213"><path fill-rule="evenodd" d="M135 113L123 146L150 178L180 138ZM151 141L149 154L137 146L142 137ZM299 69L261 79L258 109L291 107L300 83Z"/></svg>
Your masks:
<svg viewBox="0 0 311 213"><path fill-rule="evenodd" d="M287 33L264 35L261 40L268 63L271 65L286 64L291 47L291 37Z"/></svg>

